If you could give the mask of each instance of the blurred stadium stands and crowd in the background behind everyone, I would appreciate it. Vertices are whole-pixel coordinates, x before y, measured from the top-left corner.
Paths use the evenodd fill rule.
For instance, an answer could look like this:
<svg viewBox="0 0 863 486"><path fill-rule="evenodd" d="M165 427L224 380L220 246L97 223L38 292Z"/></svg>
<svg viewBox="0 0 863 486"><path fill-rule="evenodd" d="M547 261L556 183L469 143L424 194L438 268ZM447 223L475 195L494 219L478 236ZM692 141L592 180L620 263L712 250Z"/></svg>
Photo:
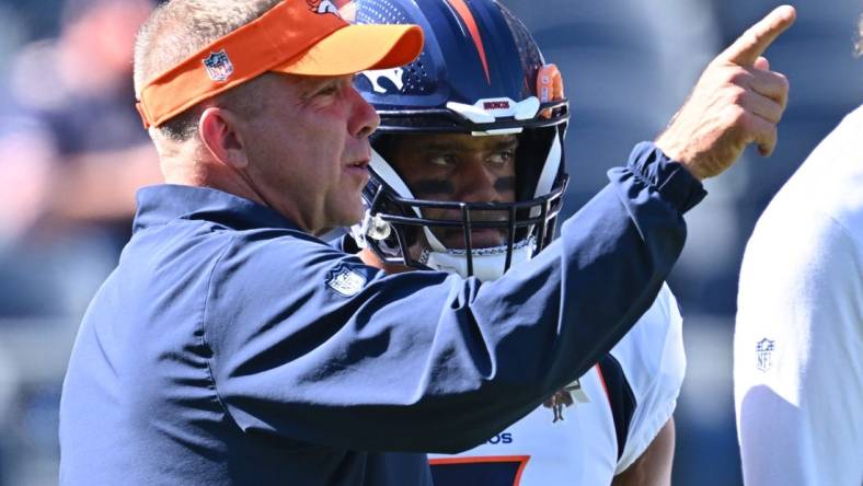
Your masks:
<svg viewBox="0 0 863 486"><path fill-rule="evenodd" d="M571 215L635 142L658 135L706 62L779 2L503 3L564 76ZM863 59L852 55L863 3L791 3L797 23L767 53L792 86L779 147L770 159L749 150L707 182L669 279L689 357L675 485L741 483L730 372L743 250L772 195L863 102ZM78 323L130 234L135 189L160 177L130 62L153 4L0 0L0 486L56 484L57 410Z"/></svg>

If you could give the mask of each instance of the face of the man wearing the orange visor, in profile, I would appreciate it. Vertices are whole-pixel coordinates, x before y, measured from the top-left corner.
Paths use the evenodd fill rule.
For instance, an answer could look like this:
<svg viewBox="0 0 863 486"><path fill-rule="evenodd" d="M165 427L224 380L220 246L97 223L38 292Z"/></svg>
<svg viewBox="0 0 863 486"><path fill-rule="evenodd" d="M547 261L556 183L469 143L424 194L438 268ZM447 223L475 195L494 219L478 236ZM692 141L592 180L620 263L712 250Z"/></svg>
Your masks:
<svg viewBox="0 0 863 486"><path fill-rule="evenodd" d="M379 118L350 81L265 74L267 102L244 130L249 177L260 196L313 234L363 217L368 136Z"/></svg>

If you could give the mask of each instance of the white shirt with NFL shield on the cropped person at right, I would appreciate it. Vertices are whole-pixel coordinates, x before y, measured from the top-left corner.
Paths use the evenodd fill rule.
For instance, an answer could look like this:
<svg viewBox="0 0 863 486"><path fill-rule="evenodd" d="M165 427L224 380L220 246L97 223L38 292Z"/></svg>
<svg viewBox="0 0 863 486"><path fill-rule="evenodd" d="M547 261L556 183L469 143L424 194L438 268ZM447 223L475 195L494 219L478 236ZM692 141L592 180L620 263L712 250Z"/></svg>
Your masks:
<svg viewBox="0 0 863 486"><path fill-rule="evenodd" d="M863 107L758 221L734 355L746 484L862 485Z"/></svg>

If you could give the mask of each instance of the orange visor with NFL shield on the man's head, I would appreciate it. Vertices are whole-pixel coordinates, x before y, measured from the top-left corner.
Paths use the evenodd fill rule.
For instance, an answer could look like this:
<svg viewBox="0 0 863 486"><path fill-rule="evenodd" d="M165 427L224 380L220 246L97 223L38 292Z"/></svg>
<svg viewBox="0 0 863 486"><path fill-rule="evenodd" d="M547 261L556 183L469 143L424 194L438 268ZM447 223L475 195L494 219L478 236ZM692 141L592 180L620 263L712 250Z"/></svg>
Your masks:
<svg viewBox="0 0 863 486"><path fill-rule="evenodd" d="M267 71L344 76L395 68L423 49L417 25L350 25L332 0L285 0L219 38L141 90L145 128Z"/></svg>

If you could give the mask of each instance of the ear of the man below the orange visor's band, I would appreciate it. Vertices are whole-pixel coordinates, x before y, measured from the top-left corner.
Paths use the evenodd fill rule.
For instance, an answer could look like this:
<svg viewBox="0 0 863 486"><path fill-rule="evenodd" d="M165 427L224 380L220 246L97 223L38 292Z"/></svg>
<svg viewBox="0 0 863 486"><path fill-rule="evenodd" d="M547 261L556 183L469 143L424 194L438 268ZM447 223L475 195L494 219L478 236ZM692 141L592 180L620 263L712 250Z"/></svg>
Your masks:
<svg viewBox="0 0 863 486"><path fill-rule="evenodd" d="M237 116L226 108L208 107L198 119L198 135L214 159L233 169L245 169L249 159L237 130Z"/></svg>

